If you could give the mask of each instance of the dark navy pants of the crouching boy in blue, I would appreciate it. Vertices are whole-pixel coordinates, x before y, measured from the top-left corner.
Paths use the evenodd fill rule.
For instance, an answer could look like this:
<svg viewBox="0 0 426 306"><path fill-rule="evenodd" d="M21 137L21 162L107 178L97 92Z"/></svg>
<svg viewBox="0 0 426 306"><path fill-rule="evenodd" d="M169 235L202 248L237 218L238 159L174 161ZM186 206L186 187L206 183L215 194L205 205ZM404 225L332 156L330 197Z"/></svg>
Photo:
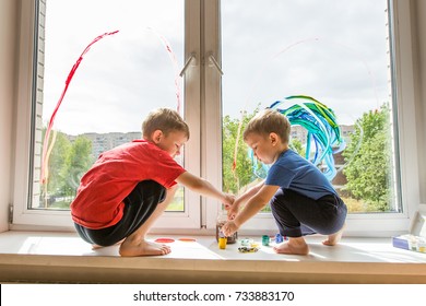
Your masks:
<svg viewBox="0 0 426 306"><path fill-rule="evenodd" d="M283 188L276 191L270 205L280 234L288 237L334 234L343 227L347 214L346 204L338 196L312 200Z"/></svg>

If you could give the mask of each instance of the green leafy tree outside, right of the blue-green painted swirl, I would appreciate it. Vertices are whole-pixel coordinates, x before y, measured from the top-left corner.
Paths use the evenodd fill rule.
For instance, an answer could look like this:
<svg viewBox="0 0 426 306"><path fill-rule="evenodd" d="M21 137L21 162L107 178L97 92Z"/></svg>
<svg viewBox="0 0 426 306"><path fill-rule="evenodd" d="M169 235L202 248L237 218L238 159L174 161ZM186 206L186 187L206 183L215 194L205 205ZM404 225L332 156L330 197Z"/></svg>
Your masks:
<svg viewBox="0 0 426 306"><path fill-rule="evenodd" d="M389 107L365 113L356 121L355 131L343 152L347 163L345 189L363 200L366 211L390 210L391 137Z"/></svg>

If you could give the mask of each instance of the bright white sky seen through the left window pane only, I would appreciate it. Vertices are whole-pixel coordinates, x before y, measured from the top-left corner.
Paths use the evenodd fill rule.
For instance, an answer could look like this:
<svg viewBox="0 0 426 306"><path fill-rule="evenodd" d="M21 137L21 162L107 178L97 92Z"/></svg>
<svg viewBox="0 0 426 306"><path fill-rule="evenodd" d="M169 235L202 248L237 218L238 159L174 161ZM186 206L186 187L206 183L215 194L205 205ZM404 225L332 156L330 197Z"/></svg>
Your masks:
<svg viewBox="0 0 426 306"><path fill-rule="evenodd" d="M168 40L181 64L182 3L47 1L44 122L84 48L98 35L114 31L119 33L98 40L84 56L54 129L70 134L140 131L151 109L176 109L175 67L161 37Z"/></svg>

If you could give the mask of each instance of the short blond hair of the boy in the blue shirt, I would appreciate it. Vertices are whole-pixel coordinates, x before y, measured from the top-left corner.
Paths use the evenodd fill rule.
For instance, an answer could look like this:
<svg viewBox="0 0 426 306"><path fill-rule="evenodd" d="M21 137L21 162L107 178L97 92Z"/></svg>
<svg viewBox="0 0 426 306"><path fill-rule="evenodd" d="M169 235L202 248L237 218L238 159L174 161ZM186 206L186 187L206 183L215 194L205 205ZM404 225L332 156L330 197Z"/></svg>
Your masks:
<svg viewBox="0 0 426 306"><path fill-rule="evenodd" d="M261 136L276 133L283 143L288 143L289 131L291 125L287 117L280 114L275 109L267 108L251 118L244 131L242 137L244 140L246 140L250 133L258 133Z"/></svg>

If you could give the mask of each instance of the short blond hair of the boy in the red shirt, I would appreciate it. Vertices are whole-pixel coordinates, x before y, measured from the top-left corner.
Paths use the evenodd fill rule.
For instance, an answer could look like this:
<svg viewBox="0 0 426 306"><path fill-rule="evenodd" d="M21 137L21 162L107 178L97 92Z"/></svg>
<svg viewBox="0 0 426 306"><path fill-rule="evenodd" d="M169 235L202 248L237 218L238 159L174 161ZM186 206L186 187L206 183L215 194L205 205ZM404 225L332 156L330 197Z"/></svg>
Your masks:
<svg viewBox="0 0 426 306"><path fill-rule="evenodd" d="M144 139L150 139L152 133L161 130L166 136L171 131L181 131L189 139L189 127L179 113L169 108L157 108L152 110L142 123Z"/></svg>

